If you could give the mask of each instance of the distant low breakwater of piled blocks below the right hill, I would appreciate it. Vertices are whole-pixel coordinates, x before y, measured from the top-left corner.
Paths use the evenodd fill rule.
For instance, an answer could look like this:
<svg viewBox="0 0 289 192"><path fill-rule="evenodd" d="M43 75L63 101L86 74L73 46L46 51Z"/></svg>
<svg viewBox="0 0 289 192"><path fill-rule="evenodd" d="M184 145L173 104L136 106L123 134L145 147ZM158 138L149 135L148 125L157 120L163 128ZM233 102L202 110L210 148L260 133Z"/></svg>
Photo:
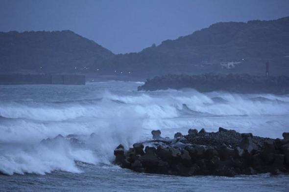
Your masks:
<svg viewBox="0 0 289 192"><path fill-rule="evenodd" d="M248 74L164 75L147 79L138 90L194 88L200 92L289 94L288 76L252 76Z"/></svg>

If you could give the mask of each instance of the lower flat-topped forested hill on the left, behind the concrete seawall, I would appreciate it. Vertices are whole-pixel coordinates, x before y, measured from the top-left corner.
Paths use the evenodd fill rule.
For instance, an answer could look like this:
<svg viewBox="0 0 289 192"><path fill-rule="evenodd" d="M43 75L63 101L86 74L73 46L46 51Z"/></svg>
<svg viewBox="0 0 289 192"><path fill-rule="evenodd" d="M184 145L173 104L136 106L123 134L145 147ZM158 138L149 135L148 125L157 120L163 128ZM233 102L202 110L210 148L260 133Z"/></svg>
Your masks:
<svg viewBox="0 0 289 192"><path fill-rule="evenodd" d="M111 51L69 30L0 32L0 71L4 73L83 71L112 56Z"/></svg>

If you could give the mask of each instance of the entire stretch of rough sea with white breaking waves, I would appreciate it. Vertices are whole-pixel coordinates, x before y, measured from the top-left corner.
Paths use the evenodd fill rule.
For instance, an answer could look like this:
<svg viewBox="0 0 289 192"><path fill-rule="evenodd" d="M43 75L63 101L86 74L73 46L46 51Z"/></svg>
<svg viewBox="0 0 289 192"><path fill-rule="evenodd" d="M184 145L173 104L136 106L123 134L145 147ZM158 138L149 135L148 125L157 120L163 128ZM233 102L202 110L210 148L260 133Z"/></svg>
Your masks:
<svg viewBox="0 0 289 192"><path fill-rule="evenodd" d="M289 95L137 91L142 84L0 85L0 191L289 190L289 175L179 177L113 165L119 144L150 139L153 129L289 132Z"/></svg>

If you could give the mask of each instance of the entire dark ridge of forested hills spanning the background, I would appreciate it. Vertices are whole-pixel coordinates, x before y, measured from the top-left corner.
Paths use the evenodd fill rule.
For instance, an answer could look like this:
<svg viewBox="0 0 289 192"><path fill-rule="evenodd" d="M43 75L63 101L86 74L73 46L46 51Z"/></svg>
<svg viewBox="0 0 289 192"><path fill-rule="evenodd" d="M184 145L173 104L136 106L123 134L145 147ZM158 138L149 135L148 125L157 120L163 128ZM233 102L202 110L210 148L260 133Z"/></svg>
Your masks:
<svg viewBox="0 0 289 192"><path fill-rule="evenodd" d="M233 69L221 63L238 63ZM138 53L115 55L72 31L0 33L0 69L99 74L289 73L289 17L218 22ZM42 66L42 68L40 68ZM75 68L77 67L77 68Z"/></svg>

